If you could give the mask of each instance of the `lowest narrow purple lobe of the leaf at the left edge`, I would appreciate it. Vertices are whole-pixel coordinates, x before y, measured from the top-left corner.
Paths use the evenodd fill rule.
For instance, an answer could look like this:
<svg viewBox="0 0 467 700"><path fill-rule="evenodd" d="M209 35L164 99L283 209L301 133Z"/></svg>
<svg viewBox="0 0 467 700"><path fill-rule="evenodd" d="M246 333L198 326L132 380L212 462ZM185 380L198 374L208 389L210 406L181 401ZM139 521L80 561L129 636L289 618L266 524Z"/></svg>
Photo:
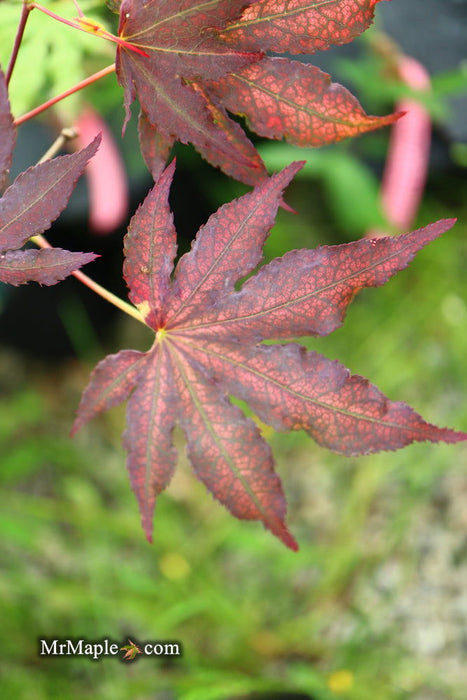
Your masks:
<svg viewBox="0 0 467 700"><path fill-rule="evenodd" d="M14 286L39 282L49 286L65 279L96 257L94 253L71 253L62 248L9 250L0 253L0 282Z"/></svg>

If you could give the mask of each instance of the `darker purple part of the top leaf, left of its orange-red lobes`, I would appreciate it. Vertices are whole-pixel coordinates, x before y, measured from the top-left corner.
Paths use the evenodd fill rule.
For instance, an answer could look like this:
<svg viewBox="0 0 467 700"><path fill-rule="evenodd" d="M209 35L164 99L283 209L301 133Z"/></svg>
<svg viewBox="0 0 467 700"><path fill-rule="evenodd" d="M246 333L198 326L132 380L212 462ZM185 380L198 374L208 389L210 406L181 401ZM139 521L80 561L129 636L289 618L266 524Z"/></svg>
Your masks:
<svg viewBox="0 0 467 700"><path fill-rule="evenodd" d="M117 76L125 87L127 119L137 94L144 119L153 129L151 133L146 126L140 131L151 171L155 153L164 157L167 144L180 140L190 141L205 158L244 182L253 184L265 177L252 144L199 80L200 76L216 80L261 58L231 49L215 34L244 7L245 2L238 0L122 2L119 35L148 56L119 47Z"/></svg>

